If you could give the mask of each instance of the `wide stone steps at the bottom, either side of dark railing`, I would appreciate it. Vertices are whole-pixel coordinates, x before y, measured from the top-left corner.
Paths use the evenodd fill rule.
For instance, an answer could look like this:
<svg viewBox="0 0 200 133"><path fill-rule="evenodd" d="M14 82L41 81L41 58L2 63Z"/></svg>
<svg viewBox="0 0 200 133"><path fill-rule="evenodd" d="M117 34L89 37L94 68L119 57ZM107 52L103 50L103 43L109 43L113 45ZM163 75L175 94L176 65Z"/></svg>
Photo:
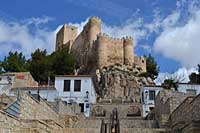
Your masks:
<svg viewBox="0 0 200 133"><path fill-rule="evenodd" d="M109 123L109 119L104 119ZM102 118L79 119L71 128L56 130L58 133L100 133ZM108 133L108 132L107 132ZM169 133L166 129L158 128L156 121L142 118L120 120L120 133Z"/></svg>

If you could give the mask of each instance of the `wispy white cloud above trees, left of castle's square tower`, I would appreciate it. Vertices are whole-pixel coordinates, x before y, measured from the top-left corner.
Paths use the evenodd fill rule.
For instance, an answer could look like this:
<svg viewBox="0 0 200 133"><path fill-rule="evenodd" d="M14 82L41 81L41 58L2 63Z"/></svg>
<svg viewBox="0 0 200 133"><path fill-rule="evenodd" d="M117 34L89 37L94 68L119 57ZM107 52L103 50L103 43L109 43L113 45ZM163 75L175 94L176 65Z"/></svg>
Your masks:
<svg viewBox="0 0 200 133"><path fill-rule="evenodd" d="M0 20L0 56L5 56L9 51L23 52L30 57L35 49L47 49L52 52L55 47L56 30L39 28L38 25L47 23L50 19L31 18L23 22L5 22ZM35 25L34 27L29 26ZM31 29L31 28L34 28Z"/></svg>

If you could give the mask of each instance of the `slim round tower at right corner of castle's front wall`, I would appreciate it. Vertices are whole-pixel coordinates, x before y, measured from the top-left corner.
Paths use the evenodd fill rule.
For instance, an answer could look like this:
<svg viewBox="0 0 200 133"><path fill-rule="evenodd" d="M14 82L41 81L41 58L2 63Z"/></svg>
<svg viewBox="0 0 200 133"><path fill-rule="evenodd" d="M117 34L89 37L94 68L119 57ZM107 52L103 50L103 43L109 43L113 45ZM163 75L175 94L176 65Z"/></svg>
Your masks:
<svg viewBox="0 0 200 133"><path fill-rule="evenodd" d="M124 38L124 64L131 66L134 62L133 38Z"/></svg>

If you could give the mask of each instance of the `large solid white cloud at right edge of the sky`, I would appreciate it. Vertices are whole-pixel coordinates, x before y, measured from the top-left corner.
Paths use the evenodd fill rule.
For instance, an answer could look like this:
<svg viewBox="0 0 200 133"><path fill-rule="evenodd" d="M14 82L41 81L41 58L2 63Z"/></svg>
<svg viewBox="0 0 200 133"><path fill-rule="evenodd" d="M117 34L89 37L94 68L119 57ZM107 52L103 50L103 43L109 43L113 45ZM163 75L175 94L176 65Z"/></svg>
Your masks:
<svg viewBox="0 0 200 133"><path fill-rule="evenodd" d="M156 38L154 50L191 68L200 63L200 10L183 26L167 26Z"/></svg>

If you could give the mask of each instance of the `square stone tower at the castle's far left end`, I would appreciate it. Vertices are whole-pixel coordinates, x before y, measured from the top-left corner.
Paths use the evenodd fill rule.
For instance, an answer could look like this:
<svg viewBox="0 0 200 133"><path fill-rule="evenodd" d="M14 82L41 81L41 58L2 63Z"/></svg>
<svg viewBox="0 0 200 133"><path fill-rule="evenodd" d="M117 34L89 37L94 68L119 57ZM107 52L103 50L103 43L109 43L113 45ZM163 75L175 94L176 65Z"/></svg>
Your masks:
<svg viewBox="0 0 200 133"><path fill-rule="evenodd" d="M70 50L77 33L77 27L64 24L56 34L56 51L64 47Z"/></svg>

